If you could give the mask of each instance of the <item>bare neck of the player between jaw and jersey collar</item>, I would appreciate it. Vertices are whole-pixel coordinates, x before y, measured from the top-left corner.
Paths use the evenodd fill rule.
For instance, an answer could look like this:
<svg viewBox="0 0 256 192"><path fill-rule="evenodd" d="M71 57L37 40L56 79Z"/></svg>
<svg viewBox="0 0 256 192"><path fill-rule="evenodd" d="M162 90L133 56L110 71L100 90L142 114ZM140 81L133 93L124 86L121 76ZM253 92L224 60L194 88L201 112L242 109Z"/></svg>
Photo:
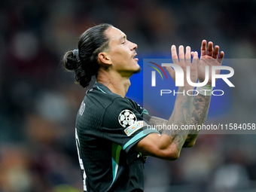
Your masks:
<svg viewBox="0 0 256 192"><path fill-rule="evenodd" d="M123 77L117 73L100 72L97 76L97 81L100 84L104 84L111 90L112 93L116 93L122 97L126 96L128 88L130 87L130 77Z"/></svg>

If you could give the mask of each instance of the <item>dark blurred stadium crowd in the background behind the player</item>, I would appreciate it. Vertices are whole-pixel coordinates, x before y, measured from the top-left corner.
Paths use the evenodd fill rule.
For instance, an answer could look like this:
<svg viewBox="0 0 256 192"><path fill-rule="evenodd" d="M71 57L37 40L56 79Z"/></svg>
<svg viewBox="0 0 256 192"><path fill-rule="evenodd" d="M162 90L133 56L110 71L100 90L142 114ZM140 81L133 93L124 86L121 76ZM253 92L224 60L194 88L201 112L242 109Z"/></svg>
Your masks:
<svg viewBox="0 0 256 192"><path fill-rule="evenodd" d="M0 192L82 191L75 116L85 90L74 84L61 59L77 47L88 27L117 26L138 44L138 56L169 54L172 44L199 50L207 39L227 58L253 61L255 8L254 0L2 1ZM233 90L234 107L214 121L256 123L256 66L241 63L235 72L239 89ZM254 137L203 135L175 162L148 158L145 191L255 191Z"/></svg>

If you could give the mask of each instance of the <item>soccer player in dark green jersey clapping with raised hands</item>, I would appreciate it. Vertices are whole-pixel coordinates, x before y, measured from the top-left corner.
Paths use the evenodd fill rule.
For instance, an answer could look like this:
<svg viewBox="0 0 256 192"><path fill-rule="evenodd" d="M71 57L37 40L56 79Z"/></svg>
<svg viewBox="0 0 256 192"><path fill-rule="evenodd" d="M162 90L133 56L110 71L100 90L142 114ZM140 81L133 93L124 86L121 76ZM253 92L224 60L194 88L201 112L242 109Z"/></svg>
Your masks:
<svg viewBox="0 0 256 192"><path fill-rule="evenodd" d="M201 58L190 47L172 45L172 59L190 80L204 81L205 66L220 66L224 53L209 42L202 42ZM148 155L176 160L182 147L195 144L197 130L147 129L148 125L190 125L206 120L211 94L199 90L197 96L178 94L169 120L151 117L145 108L126 97L130 77L141 70L136 58L137 44L128 41L119 29L103 23L81 35L78 50L63 57L75 79L87 87L96 76L93 88L87 90L75 123L78 157L83 174L84 191L143 191L143 164ZM192 62L190 61L193 56ZM219 56L218 56L219 55ZM174 78L172 68L166 68ZM184 75L186 77L186 75ZM211 78L207 87L211 89ZM184 78L178 92L193 90Z"/></svg>

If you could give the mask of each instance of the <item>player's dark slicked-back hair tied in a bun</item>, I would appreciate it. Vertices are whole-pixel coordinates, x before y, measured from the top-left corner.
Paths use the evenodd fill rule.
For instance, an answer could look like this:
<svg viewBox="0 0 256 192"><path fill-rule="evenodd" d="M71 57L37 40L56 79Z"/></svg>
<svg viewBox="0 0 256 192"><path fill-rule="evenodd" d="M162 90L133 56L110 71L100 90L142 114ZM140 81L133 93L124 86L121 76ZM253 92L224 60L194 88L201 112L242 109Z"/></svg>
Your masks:
<svg viewBox="0 0 256 192"><path fill-rule="evenodd" d="M75 80L82 87L87 87L98 73L98 54L108 47L105 30L110 26L102 23L87 29L78 41L78 50L69 50L63 56L63 66L67 71L75 71Z"/></svg>

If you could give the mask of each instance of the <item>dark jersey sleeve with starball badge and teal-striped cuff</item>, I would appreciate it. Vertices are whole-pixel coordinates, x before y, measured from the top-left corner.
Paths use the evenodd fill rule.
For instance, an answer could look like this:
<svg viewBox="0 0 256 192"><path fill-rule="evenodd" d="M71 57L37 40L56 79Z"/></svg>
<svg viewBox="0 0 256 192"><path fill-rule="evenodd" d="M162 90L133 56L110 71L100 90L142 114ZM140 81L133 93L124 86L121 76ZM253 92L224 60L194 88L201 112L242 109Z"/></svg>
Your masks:
<svg viewBox="0 0 256 192"><path fill-rule="evenodd" d="M102 120L102 133L105 139L117 143L128 151L150 133L159 133L151 129L150 116L136 102L126 98L116 98L105 110Z"/></svg>

